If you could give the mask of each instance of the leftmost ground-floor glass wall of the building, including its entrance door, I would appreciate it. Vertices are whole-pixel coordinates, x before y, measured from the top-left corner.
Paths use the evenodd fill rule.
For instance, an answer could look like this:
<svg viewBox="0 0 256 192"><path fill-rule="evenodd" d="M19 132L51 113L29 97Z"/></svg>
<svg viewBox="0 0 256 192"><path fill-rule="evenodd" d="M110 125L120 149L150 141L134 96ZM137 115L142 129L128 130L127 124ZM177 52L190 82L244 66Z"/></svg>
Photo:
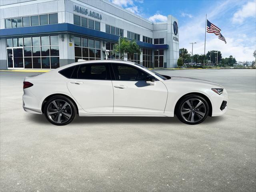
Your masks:
<svg viewBox="0 0 256 192"><path fill-rule="evenodd" d="M60 67L58 35L7 38L6 46L8 68ZM13 61L9 59L11 57L14 58Z"/></svg>

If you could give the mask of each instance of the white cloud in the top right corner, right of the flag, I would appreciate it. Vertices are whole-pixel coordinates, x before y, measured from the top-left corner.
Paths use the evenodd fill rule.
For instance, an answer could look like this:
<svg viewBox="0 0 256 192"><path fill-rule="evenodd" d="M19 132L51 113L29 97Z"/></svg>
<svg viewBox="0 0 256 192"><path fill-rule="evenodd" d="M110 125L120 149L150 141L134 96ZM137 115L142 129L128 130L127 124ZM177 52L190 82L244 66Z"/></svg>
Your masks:
<svg viewBox="0 0 256 192"><path fill-rule="evenodd" d="M256 2L248 2L241 9L234 13L232 22L242 23L248 17L256 17Z"/></svg>

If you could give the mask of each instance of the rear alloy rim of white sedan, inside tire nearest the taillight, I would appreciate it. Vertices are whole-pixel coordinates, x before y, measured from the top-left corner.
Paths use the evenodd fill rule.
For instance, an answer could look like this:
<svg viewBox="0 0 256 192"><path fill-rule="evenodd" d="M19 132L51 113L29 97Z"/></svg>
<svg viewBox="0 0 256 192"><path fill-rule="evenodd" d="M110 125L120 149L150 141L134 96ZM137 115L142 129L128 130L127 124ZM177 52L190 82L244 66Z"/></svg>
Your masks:
<svg viewBox="0 0 256 192"><path fill-rule="evenodd" d="M64 100L53 100L47 107L47 116L55 123L65 123L72 116L72 108Z"/></svg>

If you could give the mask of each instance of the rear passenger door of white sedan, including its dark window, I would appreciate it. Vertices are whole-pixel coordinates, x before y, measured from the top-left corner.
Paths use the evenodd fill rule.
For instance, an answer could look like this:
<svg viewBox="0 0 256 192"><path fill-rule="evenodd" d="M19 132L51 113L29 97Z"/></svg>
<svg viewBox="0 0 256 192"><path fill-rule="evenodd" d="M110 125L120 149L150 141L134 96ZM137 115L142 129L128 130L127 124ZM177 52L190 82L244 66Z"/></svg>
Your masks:
<svg viewBox="0 0 256 192"><path fill-rule="evenodd" d="M67 84L72 96L86 112L113 112L114 95L108 64L78 65Z"/></svg>

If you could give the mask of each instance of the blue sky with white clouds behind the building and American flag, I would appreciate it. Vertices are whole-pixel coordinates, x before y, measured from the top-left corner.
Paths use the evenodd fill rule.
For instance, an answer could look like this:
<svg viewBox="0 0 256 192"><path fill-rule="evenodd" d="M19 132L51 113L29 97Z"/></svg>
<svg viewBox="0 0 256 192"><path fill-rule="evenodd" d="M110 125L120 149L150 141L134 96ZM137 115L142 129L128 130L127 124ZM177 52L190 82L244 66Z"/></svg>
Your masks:
<svg viewBox="0 0 256 192"><path fill-rule="evenodd" d="M206 53L219 50L222 57L237 61L254 60L256 50L256 0L110 0L152 22L166 22L167 15L178 19L179 47L204 54L205 19L221 29L227 44L206 33Z"/></svg>

